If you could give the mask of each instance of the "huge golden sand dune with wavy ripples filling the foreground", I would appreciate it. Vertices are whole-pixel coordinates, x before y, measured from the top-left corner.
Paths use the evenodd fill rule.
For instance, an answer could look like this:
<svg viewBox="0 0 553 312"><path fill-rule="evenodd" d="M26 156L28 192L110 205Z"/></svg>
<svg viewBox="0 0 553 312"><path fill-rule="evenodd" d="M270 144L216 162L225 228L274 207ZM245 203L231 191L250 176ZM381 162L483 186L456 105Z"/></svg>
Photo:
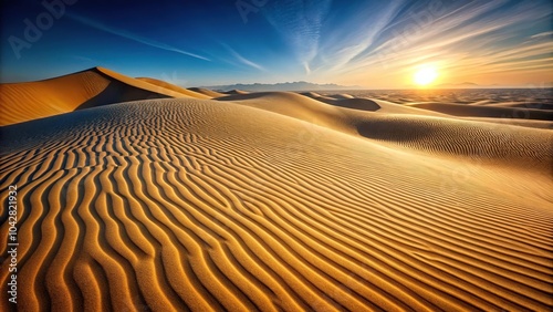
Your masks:
<svg viewBox="0 0 553 312"><path fill-rule="evenodd" d="M1 128L2 200L18 185L19 309L553 305L552 131L376 100L374 111L293 93L220 100Z"/></svg>

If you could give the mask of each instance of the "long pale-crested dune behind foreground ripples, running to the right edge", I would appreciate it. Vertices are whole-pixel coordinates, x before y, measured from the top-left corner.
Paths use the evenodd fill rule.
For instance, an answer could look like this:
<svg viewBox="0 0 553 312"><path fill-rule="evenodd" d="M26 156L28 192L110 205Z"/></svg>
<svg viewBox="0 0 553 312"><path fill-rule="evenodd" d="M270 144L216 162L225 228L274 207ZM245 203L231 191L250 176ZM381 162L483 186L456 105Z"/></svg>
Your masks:
<svg viewBox="0 0 553 312"><path fill-rule="evenodd" d="M408 115L405 113L419 110L378 100L372 103L382 103L383 111L388 108L388 112L397 110L405 113L388 115L380 114L379 108L376 113L344 110L334 104L327 105L295 93L283 92L231 95L218 100L432 154L478 158L503 165L523 162L526 169L544 174L549 174L553 155L553 133L550 131L441 117L445 115ZM392 107L393 105L399 107Z"/></svg>

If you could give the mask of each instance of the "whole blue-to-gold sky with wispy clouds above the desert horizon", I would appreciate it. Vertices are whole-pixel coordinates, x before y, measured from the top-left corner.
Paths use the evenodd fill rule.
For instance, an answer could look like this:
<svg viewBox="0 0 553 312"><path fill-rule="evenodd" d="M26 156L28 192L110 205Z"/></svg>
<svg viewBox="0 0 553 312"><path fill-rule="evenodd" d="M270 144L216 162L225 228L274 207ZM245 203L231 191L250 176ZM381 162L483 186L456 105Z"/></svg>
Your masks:
<svg viewBox="0 0 553 312"><path fill-rule="evenodd" d="M553 82L551 0L3 0L0 82L103 66L181 86Z"/></svg>

